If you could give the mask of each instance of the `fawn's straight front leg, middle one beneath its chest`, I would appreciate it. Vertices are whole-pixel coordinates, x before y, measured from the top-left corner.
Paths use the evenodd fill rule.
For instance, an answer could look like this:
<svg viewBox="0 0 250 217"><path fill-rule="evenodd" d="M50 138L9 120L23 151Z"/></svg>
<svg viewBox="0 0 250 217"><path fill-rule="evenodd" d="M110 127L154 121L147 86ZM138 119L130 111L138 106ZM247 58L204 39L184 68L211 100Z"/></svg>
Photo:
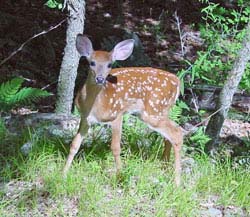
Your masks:
<svg viewBox="0 0 250 217"><path fill-rule="evenodd" d="M122 116L116 118L112 123L112 142L111 150L115 159L116 173L121 170L121 134L122 134Z"/></svg>

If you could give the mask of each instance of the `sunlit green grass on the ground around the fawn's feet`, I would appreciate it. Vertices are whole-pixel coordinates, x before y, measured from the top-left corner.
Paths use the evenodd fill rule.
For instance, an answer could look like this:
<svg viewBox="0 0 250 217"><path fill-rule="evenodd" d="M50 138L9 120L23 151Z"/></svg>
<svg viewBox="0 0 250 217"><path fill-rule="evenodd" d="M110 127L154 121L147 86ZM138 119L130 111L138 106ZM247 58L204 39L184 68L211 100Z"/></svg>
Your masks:
<svg viewBox="0 0 250 217"><path fill-rule="evenodd" d="M22 144L28 137L12 142ZM119 177L109 141L100 138L81 149L66 178L62 168L67 148L57 139L33 136L35 145L27 157L18 151L1 155L2 182L14 187L0 187L0 216L74 216L74 212L78 216L200 216L202 204L211 197L217 198L214 206L235 206L250 213L249 168L233 168L229 161L197 155L177 189L172 164L167 169L162 166L162 145L136 148L129 144L134 141L130 137L126 133L123 138L128 144L123 145ZM155 134L149 137L162 141Z"/></svg>

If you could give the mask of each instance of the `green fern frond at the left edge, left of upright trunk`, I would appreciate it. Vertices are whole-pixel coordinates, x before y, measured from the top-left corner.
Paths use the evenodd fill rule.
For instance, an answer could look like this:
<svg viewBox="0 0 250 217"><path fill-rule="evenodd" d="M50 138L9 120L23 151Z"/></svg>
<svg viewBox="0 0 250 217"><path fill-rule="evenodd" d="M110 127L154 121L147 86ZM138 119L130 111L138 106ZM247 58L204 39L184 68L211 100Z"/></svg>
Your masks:
<svg viewBox="0 0 250 217"><path fill-rule="evenodd" d="M21 104L28 104L41 97L50 96L50 93L37 88L22 88L23 78L14 78L0 85L0 109L8 111Z"/></svg>

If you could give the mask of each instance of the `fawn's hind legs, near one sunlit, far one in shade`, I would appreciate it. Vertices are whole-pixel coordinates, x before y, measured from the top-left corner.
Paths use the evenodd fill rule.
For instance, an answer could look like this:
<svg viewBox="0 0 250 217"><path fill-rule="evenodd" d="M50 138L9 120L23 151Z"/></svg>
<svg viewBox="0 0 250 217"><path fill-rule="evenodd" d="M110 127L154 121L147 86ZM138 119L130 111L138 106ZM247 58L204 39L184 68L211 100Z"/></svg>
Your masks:
<svg viewBox="0 0 250 217"><path fill-rule="evenodd" d="M180 151L181 145L183 143L183 135L181 128L173 121L168 118L150 118L150 116L143 117L143 121L145 121L151 128L159 132L168 143L170 143L174 148L175 155L175 183L177 186L180 185L181 181L181 160L180 160ZM166 143L165 143L166 144ZM166 154L166 158L170 155L169 144L165 146L164 154Z"/></svg>

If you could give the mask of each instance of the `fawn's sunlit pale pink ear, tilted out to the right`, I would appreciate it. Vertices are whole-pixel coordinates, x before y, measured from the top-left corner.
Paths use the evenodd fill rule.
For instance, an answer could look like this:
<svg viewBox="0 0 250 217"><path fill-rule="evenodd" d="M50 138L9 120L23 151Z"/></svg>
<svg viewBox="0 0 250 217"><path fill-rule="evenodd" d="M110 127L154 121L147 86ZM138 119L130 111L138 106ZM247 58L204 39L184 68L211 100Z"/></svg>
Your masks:
<svg viewBox="0 0 250 217"><path fill-rule="evenodd" d="M118 43L111 51L112 61L127 59L133 52L134 42L134 39L127 39Z"/></svg>

